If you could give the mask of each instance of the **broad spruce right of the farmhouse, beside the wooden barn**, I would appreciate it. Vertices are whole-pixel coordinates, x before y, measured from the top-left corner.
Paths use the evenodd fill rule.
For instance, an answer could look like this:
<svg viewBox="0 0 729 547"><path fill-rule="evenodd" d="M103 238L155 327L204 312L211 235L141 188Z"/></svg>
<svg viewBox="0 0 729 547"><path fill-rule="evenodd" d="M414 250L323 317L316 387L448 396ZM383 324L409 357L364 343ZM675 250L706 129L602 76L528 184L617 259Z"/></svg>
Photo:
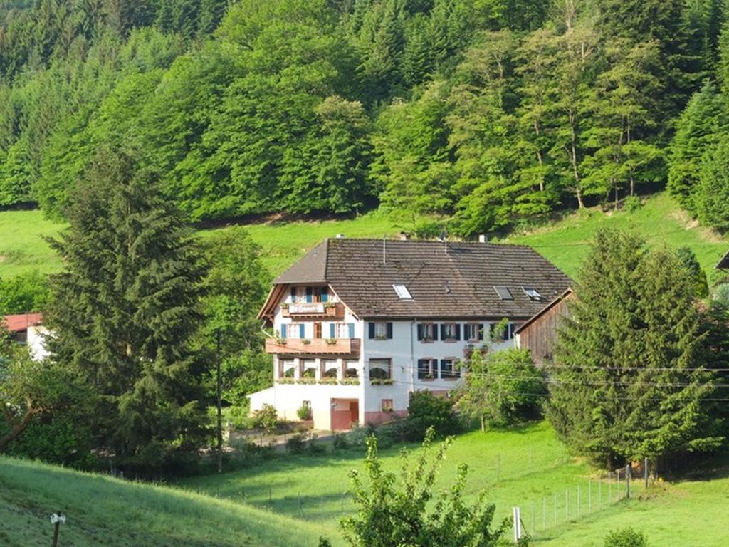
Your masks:
<svg viewBox="0 0 729 547"><path fill-rule="evenodd" d="M559 331L547 416L601 465L720 446L706 335L677 255L598 233Z"/></svg>

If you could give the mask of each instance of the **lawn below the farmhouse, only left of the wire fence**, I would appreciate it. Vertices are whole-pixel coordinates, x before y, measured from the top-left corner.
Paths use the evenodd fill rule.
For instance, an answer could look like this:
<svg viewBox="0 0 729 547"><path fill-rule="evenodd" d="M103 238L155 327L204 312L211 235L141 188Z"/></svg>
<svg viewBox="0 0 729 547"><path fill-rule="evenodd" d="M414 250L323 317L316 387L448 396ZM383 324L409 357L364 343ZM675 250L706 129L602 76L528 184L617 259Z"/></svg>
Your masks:
<svg viewBox="0 0 729 547"><path fill-rule="evenodd" d="M398 452L396 448L382 451L388 470L399 469ZM624 489L609 481L599 486L599 476L588 465L570 458L545 423L508 432L460 435L440 472L439 489L452 483L457 466L463 462L470 468L467 495L474 499L486 489L489 499L496 503L499 519L509 516L512 506L519 505L526 526L531 529L533 523L537 528L537 538L547 533L545 525L549 533L553 532L555 494L557 522L563 524L568 514L570 519L578 519L578 487L580 519L590 509L598 512L607 508L611 494L612 502L617 502ZM341 451L321 457L287 455L248 470L190 478L181 486L316 523L331 538L338 538L338 519L353 509L346 496L350 484L347 475L353 468L362 468L361 452ZM636 489L642 487L636 485ZM547 509L545 514L542 508Z"/></svg>

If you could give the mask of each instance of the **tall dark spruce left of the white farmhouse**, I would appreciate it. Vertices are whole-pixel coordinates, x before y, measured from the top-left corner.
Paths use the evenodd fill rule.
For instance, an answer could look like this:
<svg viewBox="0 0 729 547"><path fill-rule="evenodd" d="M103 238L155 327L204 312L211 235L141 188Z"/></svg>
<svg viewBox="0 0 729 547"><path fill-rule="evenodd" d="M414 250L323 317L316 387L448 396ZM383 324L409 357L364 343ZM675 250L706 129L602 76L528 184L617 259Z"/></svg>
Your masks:
<svg viewBox="0 0 729 547"><path fill-rule="evenodd" d="M203 364L191 349L204 271L155 174L100 150L52 242L55 360L93 387L95 446L120 465L169 465L206 438Z"/></svg>

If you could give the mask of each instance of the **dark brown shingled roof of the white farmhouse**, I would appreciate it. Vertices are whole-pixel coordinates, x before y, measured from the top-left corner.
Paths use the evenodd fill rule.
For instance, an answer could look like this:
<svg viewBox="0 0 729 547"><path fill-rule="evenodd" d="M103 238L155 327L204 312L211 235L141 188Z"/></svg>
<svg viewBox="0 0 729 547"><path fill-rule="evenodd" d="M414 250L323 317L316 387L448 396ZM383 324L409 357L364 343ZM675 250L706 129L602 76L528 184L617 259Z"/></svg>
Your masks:
<svg viewBox="0 0 729 547"><path fill-rule="evenodd" d="M274 284L328 283L358 317L531 317L572 281L529 247L487 243L327 239ZM394 284L408 287L401 300ZM502 300L494 287L507 287ZM530 287L541 300L523 290ZM272 303L268 303L272 305Z"/></svg>

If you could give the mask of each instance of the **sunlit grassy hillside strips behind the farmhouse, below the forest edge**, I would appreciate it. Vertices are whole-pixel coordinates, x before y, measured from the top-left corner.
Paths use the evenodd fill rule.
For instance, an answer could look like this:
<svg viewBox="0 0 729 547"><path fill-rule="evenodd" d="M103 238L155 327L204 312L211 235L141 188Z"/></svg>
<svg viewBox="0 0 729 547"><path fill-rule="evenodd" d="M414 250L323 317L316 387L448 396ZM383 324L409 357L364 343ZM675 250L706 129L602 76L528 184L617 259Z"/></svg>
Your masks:
<svg viewBox="0 0 729 547"><path fill-rule="evenodd" d="M505 241L531 245L566 274L576 276L588 251L590 237L602 226L636 230L653 245L665 244L673 248L688 245L709 274L729 249L725 238L690 220L666 193L647 198L636 212L605 213L599 208L586 209L544 228L515 234ZM58 260L43 237L55 236L61 228L62 225L44 220L39 211L0 212L0 277L33 269L44 273L57 271ZM248 229L263 248L263 263L274 276L323 238L338 233L348 237L380 238L396 236L399 232L397 226L377 212L354 220L254 224ZM211 231L201 234L205 237Z"/></svg>

